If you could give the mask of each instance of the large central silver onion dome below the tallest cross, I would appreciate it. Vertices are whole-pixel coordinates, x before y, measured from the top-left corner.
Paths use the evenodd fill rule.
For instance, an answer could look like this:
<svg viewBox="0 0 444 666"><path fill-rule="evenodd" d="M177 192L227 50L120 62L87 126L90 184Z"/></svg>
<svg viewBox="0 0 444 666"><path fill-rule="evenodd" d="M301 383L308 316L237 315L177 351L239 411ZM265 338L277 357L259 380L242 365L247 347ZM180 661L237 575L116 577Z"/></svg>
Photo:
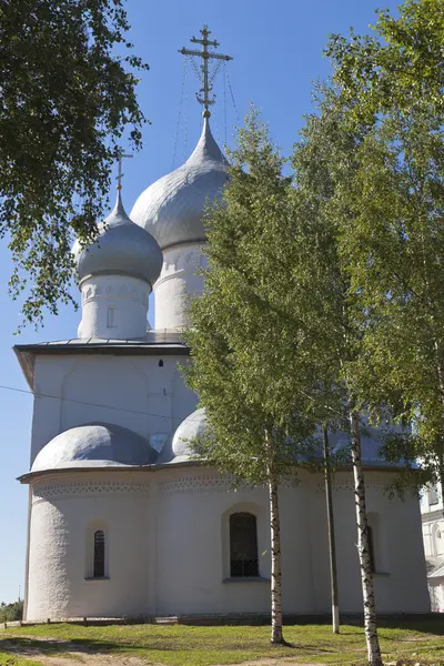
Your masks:
<svg viewBox="0 0 444 666"><path fill-rule="evenodd" d="M139 196L131 219L149 231L162 250L205 240L206 201L219 198L228 180L228 162L213 139L208 119L186 162L155 181Z"/></svg>

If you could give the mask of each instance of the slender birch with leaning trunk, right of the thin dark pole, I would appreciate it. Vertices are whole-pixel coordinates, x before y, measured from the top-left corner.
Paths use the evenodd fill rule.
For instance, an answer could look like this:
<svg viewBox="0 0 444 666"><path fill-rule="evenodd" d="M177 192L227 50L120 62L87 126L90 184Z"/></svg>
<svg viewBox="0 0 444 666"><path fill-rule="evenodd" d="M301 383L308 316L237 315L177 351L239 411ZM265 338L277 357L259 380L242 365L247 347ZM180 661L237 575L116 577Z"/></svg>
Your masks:
<svg viewBox="0 0 444 666"><path fill-rule="evenodd" d="M327 394L332 410L336 414L342 412L349 421L364 629L369 663L380 666L382 657L361 460L362 411L369 405L365 394L357 391L355 376L355 365L362 354L362 317L350 282L349 266L341 252L344 233L342 192L356 168L355 153L363 135L357 130L350 131L346 128L342 100L336 89L319 87L315 94L316 113L306 118L302 139L293 154L294 195L306 209L315 239L305 270L307 283L314 285L314 291L321 297L320 304L310 313L313 335L322 340L320 349L323 356L317 362L322 366L322 375L331 376ZM312 303L309 301L307 305Z"/></svg>

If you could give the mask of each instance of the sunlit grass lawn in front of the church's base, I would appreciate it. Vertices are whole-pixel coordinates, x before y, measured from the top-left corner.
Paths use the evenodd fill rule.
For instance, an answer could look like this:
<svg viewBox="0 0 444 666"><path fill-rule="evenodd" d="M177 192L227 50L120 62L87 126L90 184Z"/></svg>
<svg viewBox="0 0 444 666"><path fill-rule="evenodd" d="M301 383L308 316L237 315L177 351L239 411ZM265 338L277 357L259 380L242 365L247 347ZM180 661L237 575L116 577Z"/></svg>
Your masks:
<svg viewBox="0 0 444 666"><path fill-rule="evenodd" d="M444 617L385 624L380 627L385 663L444 666ZM33 653L38 648L49 655L69 656L70 652L82 650L130 655L165 666L211 666L264 657L291 657L294 664L365 664L364 632L360 626L343 626L341 634L334 636L330 625L294 625L286 626L284 635L293 647L271 647L266 626L39 625L0 629L0 650L8 652L8 640L20 654L36 659L39 655ZM8 660L1 660L0 666L9 666ZM87 656L84 663L88 664ZM18 660L11 666L30 665Z"/></svg>

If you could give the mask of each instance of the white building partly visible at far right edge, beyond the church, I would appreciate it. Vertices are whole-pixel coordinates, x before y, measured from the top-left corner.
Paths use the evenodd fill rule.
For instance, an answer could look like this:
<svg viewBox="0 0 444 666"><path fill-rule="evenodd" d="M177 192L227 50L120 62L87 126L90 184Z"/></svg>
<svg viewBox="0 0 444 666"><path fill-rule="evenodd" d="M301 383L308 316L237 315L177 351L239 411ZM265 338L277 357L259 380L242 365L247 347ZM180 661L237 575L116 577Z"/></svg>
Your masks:
<svg viewBox="0 0 444 666"><path fill-rule="evenodd" d="M424 490L421 514L432 610L444 613L444 504L441 484Z"/></svg>

